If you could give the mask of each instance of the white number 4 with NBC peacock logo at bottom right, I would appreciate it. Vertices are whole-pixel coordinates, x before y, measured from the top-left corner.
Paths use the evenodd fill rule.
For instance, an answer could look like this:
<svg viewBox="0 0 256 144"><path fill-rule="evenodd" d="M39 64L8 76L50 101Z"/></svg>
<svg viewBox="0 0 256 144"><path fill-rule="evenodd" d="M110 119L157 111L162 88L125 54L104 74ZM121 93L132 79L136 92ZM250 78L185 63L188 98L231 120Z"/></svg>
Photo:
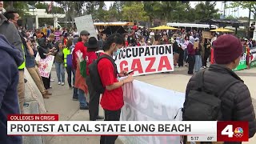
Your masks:
<svg viewBox="0 0 256 144"><path fill-rule="evenodd" d="M233 138L233 135L236 138L242 138L243 136L243 130L242 127L237 127L233 131L233 125L227 125L223 130L222 130L222 135L228 135L229 138Z"/></svg>

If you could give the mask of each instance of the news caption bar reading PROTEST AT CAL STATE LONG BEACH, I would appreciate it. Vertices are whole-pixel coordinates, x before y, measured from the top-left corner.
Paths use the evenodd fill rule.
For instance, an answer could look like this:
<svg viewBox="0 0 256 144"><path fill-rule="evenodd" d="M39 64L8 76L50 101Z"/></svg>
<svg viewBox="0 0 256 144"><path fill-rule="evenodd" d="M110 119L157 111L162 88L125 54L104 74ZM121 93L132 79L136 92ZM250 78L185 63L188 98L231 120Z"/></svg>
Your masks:
<svg viewBox="0 0 256 144"><path fill-rule="evenodd" d="M58 114L15 114L8 135L123 135L168 137L188 142L248 142L248 122L216 121L58 121Z"/></svg>

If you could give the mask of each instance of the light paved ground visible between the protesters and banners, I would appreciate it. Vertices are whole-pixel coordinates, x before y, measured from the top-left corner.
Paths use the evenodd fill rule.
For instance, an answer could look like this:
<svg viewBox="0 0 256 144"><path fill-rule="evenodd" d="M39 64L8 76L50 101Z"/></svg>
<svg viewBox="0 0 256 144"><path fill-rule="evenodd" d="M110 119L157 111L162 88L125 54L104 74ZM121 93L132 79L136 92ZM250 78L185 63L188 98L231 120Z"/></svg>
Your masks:
<svg viewBox="0 0 256 144"><path fill-rule="evenodd" d="M186 84L190 79L190 75L187 75L187 68L182 67L175 69L170 74L150 74L146 76L138 76L137 80L150 83L154 86L160 86L169 90L176 90L185 92ZM256 68L251 70L242 70L236 72L245 81L246 85L250 90L251 97L254 102L254 110L256 108ZM52 78L55 82L51 82L53 89L53 95L49 99L45 99L46 110L49 114L59 114L59 120L61 121L87 121L89 120L88 110L79 110L78 101L72 101L73 90L69 89L66 82L65 86L59 86L56 77L55 70L53 69ZM256 110L255 110L256 111ZM100 114L103 115L103 110L100 109ZM98 144L99 137L86 137L86 136L75 136L75 137L64 137L54 136L45 137L46 144ZM244 144L255 144L256 136L250 138L250 142L243 142ZM122 144L119 140L116 144Z"/></svg>

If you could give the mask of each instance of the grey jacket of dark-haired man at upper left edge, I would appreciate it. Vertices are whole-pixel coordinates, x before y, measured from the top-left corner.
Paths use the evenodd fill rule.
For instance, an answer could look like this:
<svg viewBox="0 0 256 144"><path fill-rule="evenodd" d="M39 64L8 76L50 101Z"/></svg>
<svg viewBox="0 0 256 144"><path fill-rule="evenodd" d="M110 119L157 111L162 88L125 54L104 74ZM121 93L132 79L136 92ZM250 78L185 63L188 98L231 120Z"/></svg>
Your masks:
<svg viewBox="0 0 256 144"><path fill-rule="evenodd" d="M17 28L12 22L9 22L7 18L0 14L0 34L3 34L8 42L22 54L22 59L24 61L24 51L22 50L22 39L18 34Z"/></svg>

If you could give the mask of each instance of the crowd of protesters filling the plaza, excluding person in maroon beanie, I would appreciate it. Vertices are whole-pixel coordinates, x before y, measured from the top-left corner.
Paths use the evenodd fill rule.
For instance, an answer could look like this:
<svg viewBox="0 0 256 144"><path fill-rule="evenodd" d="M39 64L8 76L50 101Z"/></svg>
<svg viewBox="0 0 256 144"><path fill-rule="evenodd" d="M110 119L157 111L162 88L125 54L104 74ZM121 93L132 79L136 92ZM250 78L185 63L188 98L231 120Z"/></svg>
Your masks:
<svg viewBox="0 0 256 144"><path fill-rule="evenodd" d="M50 98L50 95L52 95L50 93L52 88L50 84L55 80L51 76L45 78L40 75L38 70L40 63L35 59L37 55L42 59L49 55L54 55L54 66L58 78L56 82L60 86L65 86L66 82L68 83L70 90L73 90L73 95L70 98L79 102L80 110L89 110L91 121L97 119L118 121L121 108L124 105L122 86L125 83L132 82L133 77L128 75L127 78L118 81L118 78L113 77L116 72L112 63L106 59L100 61L98 63L98 73L102 80L102 85L106 87L106 92L102 94L102 99L100 100L100 94L94 90L90 82L90 71L88 69L88 66L98 58L96 51L102 50L104 52L100 54L101 56L106 54L111 57L114 54L118 54L118 49L122 46L172 44L174 66L178 68L188 65L188 74L194 74L194 72L198 73L199 70L209 67L207 64L210 61L210 49L214 46L214 41L220 35L223 35L213 34L213 38L207 39L202 38L201 30L149 30L146 27L139 28L135 24L127 34L108 35L100 33L97 40L94 37L90 38L90 33L87 30L82 30L78 33L78 30L74 28L58 27L53 30L50 26L47 26L45 32L42 30L26 30L22 27L21 21L19 21L17 11L1 13L0 18L0 43L2 43L0 46L2 52L0 54L2 54L3 60L0 63L2 69L0 74L3 76L0 83L0 94L5 91L5 94L0 95L1 127L6 127L7 114L23 114L23 106L28 105L24 102L25 68L34 79L42 97ZM234 41L240 44L235 38ZM251 38L250 40L242 38L241 41L242 45L250 48L256 45L256 42ZM218 45L221 44L218 43ZM237 56L238 54L235 55ZM236 59L238 58L239 55ZM229 62L233 62L234 58L229 60ZM87 63L86 68L83 68L82 62ZM238 62L235 64L232 68L237 66ZM126 71L122 70L118 76L127 76ZM8 95L8 98L6 95ZM246 98L250 100L249 96L247 94ZM98 115L99 101L101 101L105 112L104 117ZM251 101L249 104L251 104ZM0 134L4 137L3 143L22 143L21 137L9 137L6 135L6 130L0 130ZM114 143L116 138L117 136L102 136L101 144Z"/></svg>

